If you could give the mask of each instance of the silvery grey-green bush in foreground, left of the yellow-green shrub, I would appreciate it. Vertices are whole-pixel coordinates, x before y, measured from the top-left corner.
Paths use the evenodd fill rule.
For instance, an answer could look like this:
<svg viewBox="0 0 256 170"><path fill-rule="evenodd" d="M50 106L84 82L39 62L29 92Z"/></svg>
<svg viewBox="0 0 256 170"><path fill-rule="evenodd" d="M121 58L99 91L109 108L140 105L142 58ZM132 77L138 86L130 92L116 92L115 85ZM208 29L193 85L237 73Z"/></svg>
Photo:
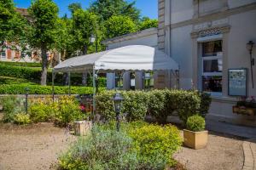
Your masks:
<svg viewBox="0 0 256 170"><path fill-rule="evenodd" d="M132 140L125 133L94 127L59 158L60 169L137 169Z"/></svg>

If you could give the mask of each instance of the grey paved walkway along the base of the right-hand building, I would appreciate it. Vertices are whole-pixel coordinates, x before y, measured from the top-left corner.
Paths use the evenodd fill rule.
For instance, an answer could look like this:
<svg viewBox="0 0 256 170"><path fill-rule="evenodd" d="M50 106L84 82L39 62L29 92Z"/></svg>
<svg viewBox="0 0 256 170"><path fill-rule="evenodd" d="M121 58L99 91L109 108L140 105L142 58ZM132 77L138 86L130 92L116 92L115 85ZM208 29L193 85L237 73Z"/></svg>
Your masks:
<svg viewBox="0 0 256 170"><path fill-rule="evenodd" d="M228 122L207 120L207 130L232 134L246 139L256 139L256 127L244 127L233 125Z"/></svg>

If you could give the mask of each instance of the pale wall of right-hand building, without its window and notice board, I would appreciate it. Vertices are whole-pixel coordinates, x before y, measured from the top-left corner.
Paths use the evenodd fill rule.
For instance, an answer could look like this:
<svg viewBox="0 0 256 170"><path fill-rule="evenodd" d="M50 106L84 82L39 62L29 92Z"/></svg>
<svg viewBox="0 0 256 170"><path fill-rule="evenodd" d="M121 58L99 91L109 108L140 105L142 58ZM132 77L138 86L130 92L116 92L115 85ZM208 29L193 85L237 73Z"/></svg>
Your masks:
<svg viewBox="0 0 256 170"><path fill-rule="evenodd" d="M164 4L164 8L162 7ZM180 86L201 90L201 33L219 31L223 41L223 93L212 95L208 118L256 126L256 116L232 113L238 98L228 95L228 69L250 69L248 41L256 42L256 0L159 0L159 48L180 65ZM163 33L164 32L164 33ZM162 35L163 34L163 35ZM164 38L163 38L164 37ZM214 36L213 36L214 37ZM204 37L209 38L211 36ZM253 48L256 59L256 47ZM247 95L255 96L248 70ZM256 65L253 66L256 84ZM255 86L255 85L254 85Z"/></svg>

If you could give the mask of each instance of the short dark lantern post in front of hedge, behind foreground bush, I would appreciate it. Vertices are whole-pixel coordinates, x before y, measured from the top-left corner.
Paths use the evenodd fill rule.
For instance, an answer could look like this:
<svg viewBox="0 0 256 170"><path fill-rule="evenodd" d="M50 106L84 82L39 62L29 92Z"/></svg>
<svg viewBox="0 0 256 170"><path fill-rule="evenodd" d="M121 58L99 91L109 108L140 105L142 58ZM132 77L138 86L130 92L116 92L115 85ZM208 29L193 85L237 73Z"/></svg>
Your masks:
<svg viewBox="0 0 256 170"><path fill-rule="evenodd" d="M121 94L116 93L113 96L113 108L116 114L116 130L119 132L120 130L120 121L119 121L119 115L121 111L122 101L124 100Z"/></svg>

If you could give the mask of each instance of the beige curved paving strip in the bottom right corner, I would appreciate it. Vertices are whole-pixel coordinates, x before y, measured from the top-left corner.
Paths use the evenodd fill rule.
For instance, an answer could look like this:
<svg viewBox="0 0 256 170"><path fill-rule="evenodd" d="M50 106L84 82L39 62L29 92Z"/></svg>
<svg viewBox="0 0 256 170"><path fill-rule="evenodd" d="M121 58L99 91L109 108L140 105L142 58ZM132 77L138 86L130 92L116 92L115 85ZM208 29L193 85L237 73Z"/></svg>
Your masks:
<svg viewBox="0 0 256 170"><path fill-rule="evenodd" d="M242 144L244 153L243 170L256 170L256 139L248 139Z"/></svg>

